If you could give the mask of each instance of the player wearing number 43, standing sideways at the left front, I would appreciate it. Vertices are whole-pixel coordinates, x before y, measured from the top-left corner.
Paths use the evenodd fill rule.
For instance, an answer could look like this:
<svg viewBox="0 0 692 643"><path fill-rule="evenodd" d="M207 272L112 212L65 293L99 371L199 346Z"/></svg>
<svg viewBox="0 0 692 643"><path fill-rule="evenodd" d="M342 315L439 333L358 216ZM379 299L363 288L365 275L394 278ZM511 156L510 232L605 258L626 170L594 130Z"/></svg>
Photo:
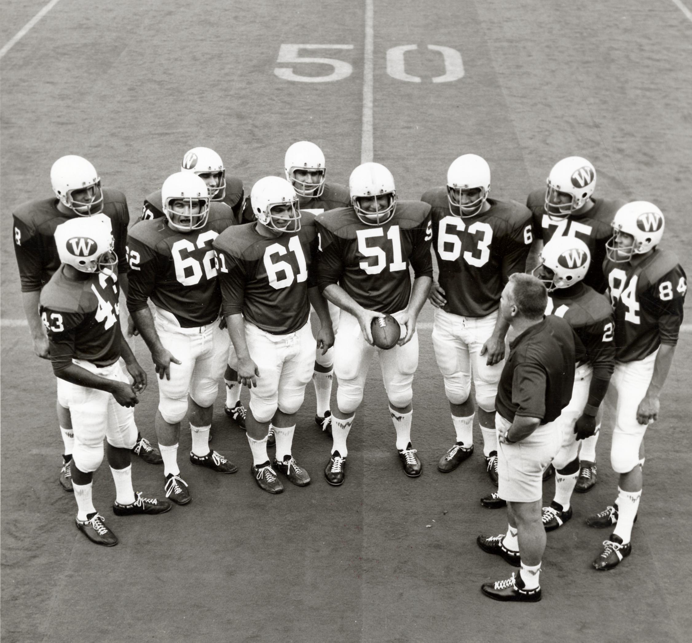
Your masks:
<svg viewBox="0 0 692 643"><path fill-rule="evenodd" d="M83 202L83 201L82 201ZM77 528L89 540L111 547L118 537L96 511L91 498L93 472L103 461L103 439L116 483L116 516L163 514L170 502L135 495L130 452L137 442L134 405L147 375L120 331L118 257L113 252L111 219L96 214L67 219L55 227L60 259L40 296L40 317L58 396L69 410L74 433L72 488ZM38 310L38 309L37 309ZM120 356L134 379L122 372Z"/></svg>

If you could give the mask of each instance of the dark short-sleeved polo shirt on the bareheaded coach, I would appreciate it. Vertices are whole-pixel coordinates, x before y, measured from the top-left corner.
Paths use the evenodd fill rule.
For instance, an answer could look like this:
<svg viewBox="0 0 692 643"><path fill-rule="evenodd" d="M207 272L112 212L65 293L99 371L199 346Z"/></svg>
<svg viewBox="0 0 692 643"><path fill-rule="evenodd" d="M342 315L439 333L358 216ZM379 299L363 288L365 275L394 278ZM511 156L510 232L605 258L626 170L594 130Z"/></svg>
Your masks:
<svg viewBox="0 0 692 643"><path fill-rule="evenodd" d="M509 345L495 408L507 420L515 415L553 422L570 403L574 386L574 331L549 315Z"/></svg>

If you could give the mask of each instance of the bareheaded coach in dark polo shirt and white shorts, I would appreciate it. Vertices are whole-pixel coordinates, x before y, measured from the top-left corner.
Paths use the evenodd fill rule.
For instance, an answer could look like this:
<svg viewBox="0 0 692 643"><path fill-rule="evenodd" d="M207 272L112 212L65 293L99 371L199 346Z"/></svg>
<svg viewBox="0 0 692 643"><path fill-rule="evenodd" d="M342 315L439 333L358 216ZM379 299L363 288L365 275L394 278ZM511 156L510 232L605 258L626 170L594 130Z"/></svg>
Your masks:
<svg viewBox="0 0 692 643"><path fill-rule="evenodd" d="M543 471L560 450L562 433L555 420L572 397L575 364L572 327L561 317L545 316L547 298L540 280L516 273L500 299L500 316L516 334L495 401L498 493L507 500L509 529L500 536L478 536L477 543L521 570L518 577L482 586L498 601L540 601Z"/></svg>

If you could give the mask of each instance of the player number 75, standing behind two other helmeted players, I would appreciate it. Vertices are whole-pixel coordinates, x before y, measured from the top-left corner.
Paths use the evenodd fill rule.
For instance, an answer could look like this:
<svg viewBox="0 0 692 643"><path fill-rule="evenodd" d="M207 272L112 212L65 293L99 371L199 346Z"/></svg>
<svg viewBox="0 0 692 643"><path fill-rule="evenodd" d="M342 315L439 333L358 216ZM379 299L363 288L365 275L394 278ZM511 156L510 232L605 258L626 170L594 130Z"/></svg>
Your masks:
<svg viewBox="0 0 692 643"><path fill-rule="evenodd" d="M538 264L543 244L555 236L581 239L591 253L591 267L584 283L599 293L605 293L608 282L603 275L605 242L612 230L610 224L624 201L597 199L596 169L581 156L568 156L554 165L548 174L545 190L535 190L527 198L533 213L534 244L527 260L527 268ZM580 468L576 491L589 491L597 480L596 444L599 439L601 415L597 417L596 433L581 442Z"/></svg>

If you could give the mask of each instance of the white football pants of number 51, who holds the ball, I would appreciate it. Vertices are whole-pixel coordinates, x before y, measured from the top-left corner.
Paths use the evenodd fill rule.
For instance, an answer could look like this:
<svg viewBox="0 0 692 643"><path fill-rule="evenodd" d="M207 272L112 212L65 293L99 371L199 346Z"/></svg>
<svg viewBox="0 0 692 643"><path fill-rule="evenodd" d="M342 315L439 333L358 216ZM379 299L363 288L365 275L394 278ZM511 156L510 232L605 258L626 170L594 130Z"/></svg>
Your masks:
<svg viewBox="0 0 692 643"><path fill-rule="evenodd" d="M401 322L403 311L392 315ZM401 332L406 332L402 327ZM403 346L389 350L365 341L358 319L341 311L334 342L334 374L338 381L336 401L341 413L354 413L363 400L363 390L372 356L378 352L382 379L392 406L403 408L413 399L413 374L418 368L418 332Z"/></svg>

